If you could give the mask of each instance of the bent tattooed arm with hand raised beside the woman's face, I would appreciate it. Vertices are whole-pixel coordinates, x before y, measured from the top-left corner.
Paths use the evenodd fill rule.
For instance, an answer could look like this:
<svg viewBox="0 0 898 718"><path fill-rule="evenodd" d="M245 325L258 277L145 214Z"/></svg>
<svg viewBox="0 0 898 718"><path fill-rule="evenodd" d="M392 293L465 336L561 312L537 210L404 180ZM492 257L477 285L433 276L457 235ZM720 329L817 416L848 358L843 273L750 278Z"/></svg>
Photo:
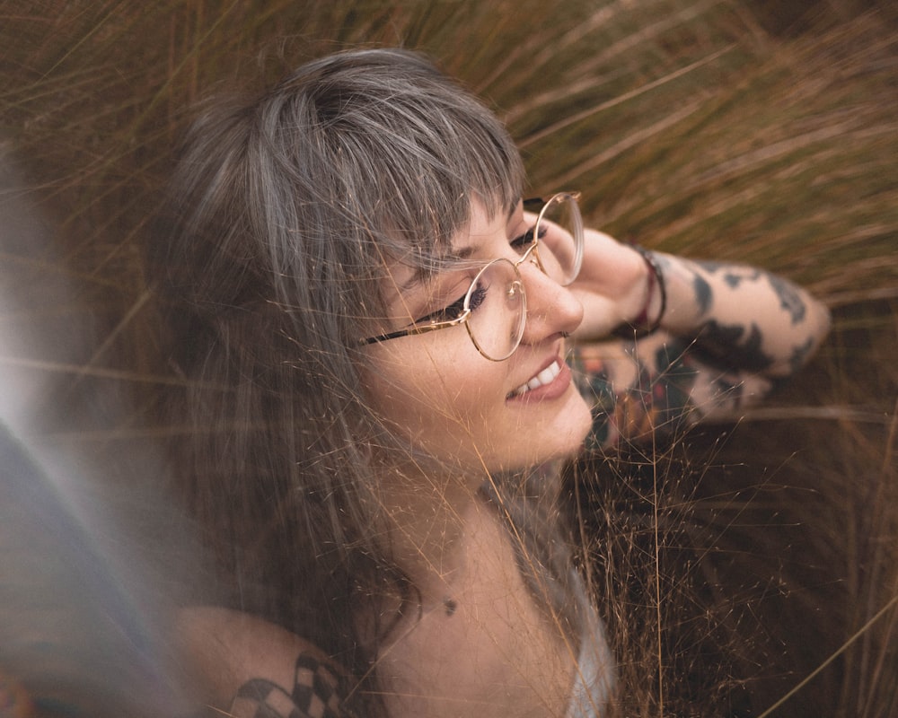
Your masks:
<svg viewBox="0 0 898 718"><path fill-rule="evenodd" d="M587 232L584 274L575 287L585 320L572 363L594 405L594 447L645 442L732 416L796 372L829 328L820 302L760 269L661 253L650 258L664 293L651 262ZM657 331L609 338L630 323Z"/></svg>

